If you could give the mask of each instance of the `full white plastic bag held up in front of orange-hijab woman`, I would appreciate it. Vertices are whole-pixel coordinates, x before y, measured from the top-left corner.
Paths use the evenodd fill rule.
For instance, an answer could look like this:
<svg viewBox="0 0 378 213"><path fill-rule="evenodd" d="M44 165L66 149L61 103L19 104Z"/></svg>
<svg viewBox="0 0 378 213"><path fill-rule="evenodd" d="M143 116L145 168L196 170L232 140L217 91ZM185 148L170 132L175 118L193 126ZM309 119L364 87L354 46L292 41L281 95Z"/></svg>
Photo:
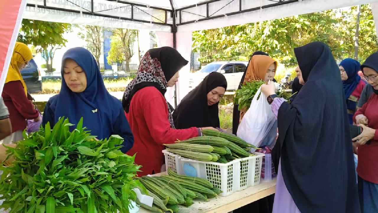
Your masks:
<svg viewBox="0 0 378 213"><path fill-rule="evenodd" d="M259 95L260 98L257 99ZM239 124L237 136L259 147L275 122L276 116L274 116L265 95L261 92L260 86L253 97L251 107L249 107Z"/></svg>

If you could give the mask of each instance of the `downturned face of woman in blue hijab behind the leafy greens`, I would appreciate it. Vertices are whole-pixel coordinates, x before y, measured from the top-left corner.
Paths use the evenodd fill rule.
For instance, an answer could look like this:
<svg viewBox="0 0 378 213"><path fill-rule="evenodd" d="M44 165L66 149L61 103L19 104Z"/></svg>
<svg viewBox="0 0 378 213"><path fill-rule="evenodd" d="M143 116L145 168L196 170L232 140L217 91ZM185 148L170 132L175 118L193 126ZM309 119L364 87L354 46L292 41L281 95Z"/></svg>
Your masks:
<svg viewBox="0 0 378 213"><path fill-rule="evenodd" d="M74 60L67 59L64 61L63 77L68 88L73 92L82 92L87 88L87 76Z"/></svg>

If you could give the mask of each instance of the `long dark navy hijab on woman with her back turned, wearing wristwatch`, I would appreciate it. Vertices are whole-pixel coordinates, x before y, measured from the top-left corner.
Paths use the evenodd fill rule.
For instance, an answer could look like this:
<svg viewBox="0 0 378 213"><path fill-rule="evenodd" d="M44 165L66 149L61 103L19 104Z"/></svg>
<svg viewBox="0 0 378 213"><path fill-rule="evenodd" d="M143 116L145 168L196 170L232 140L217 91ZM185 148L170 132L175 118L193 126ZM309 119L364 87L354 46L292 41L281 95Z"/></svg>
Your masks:
<svg viewBox="0 0 378 213"><path fill-rule="evenodd" d="M305 85L278 111L281 171L301 212L359 210L353 149L340 72L329 47L294 49Z"/></svg>

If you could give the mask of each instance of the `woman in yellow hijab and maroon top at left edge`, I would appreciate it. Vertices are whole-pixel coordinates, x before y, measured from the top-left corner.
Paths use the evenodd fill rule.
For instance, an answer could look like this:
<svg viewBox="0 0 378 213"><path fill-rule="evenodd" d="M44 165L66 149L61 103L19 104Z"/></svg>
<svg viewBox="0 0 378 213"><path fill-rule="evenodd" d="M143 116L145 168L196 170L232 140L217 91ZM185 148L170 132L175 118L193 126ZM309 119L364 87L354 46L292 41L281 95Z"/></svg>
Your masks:
<svg viewBox="0 0 378 213"><path fill-rule="evenodd" d="M4 144L23 139L22 131L26 128L26 119L40 120L39 112L28 100L28 89L20 72L31 58L33 58L33 55L29 47L21 42L16 42L2 93L12 123L12 135L3 139L2 143Z"/></svg>

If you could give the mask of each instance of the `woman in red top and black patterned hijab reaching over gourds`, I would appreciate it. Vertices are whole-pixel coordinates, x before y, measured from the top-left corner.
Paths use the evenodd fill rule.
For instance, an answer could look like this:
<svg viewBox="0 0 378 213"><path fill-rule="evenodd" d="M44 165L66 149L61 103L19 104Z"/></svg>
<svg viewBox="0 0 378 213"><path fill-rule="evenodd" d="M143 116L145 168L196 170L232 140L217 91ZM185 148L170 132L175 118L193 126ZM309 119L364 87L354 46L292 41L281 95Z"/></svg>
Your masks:
<svg viewBox="0 0 378 213"><path fill-rule="evenodd" d="M178 81L178 70L188 63L171 47L150 49L143 56L138 73L125 89L122 105L134 135L127 154L142 165L139 176L159 173L164 164L163 144L201 136L201 129L175 129L172 109L164 98L167 87Z"/></svg>

